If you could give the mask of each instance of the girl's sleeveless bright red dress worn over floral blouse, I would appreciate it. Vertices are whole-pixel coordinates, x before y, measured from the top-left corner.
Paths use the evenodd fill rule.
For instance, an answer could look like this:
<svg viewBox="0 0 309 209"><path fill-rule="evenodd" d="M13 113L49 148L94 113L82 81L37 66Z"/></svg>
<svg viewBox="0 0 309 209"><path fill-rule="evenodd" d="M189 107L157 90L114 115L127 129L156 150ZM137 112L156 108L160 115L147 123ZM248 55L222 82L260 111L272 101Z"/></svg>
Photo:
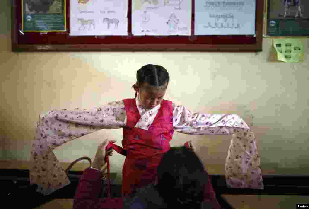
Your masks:
<svg viewBox="0 0 309 209"><path fill-rule="evenodd" d="M123 127L122 147L126 151L122 170L122 195L131 195L136 189L156 180L157 167L174 133L173 106L163 100L148 130L135 128L141 115L135 99L123 100L127 123Z"/></svg>

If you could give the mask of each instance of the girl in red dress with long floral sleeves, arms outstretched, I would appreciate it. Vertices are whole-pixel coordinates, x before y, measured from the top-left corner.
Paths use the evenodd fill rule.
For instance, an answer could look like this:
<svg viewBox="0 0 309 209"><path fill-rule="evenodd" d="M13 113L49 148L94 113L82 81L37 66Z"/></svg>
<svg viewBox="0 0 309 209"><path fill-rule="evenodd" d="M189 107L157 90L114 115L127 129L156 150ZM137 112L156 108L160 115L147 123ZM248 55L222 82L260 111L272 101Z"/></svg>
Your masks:
<svg viewBox="0 0 309 209"><path fill-rule="evenodd" d="M248 125L235 114L192 113L164 100L168 83L167 70L149 64L137 71L134 99L92 110L52 110L40 117L31 153L31 183L38 184L38 191L44 194L68 185L70 181L52 150L100 129L122 128L124 197L155 181L157 166L170 148L174 130L192 135L233 134L226 158L227 185L263 189L260 158Z"/></svg>

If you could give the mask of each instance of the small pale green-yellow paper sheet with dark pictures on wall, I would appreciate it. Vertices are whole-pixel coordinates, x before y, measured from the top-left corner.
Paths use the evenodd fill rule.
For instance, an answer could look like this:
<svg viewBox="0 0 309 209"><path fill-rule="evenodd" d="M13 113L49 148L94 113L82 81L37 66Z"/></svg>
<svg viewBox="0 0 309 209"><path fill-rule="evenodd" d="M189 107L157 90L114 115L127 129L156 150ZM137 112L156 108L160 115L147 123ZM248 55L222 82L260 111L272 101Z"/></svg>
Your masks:
<svg viewBox="0 0 309 209"><path fill-rule="evenodd" d="M297 38L273 39L277 59L283 62L302 62L304 59L304 46Z"/></svg>

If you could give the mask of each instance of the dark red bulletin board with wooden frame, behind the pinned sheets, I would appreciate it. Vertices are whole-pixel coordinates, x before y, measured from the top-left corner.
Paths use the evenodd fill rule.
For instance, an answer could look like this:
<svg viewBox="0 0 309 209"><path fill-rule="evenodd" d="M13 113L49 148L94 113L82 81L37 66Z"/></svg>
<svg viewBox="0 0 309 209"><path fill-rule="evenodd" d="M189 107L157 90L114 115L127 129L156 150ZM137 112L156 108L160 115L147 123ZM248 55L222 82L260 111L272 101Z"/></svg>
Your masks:
<svg viewBox="0 0 309 209"><path fill-rule="evenodd" d="M192 0L191 36L133 36L128 0L127 36L70 36L70 1L66 2L66 30L23 32L22 0L11 0L12 51L262 51L264 0L256 0L255 35L194 35Z"/></svg>

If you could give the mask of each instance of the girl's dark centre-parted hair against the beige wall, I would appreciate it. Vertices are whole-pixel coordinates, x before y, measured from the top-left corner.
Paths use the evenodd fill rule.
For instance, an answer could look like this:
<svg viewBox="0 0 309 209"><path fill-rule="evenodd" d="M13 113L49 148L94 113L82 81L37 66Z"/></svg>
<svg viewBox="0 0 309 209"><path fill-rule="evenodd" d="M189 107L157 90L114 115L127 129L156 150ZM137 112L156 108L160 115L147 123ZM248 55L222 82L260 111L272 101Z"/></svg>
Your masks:
<svg viewBox="0 0 309 209"><path fill-rule="evenodd" d="M154 87L161 87L165 83L168 84L170 76L164 67L160 65L148 64L142 66L141 69L137 71L136 79L137 79L136 84L139 87L142 87L144 83L149 83L150 86Z"/></svg>

